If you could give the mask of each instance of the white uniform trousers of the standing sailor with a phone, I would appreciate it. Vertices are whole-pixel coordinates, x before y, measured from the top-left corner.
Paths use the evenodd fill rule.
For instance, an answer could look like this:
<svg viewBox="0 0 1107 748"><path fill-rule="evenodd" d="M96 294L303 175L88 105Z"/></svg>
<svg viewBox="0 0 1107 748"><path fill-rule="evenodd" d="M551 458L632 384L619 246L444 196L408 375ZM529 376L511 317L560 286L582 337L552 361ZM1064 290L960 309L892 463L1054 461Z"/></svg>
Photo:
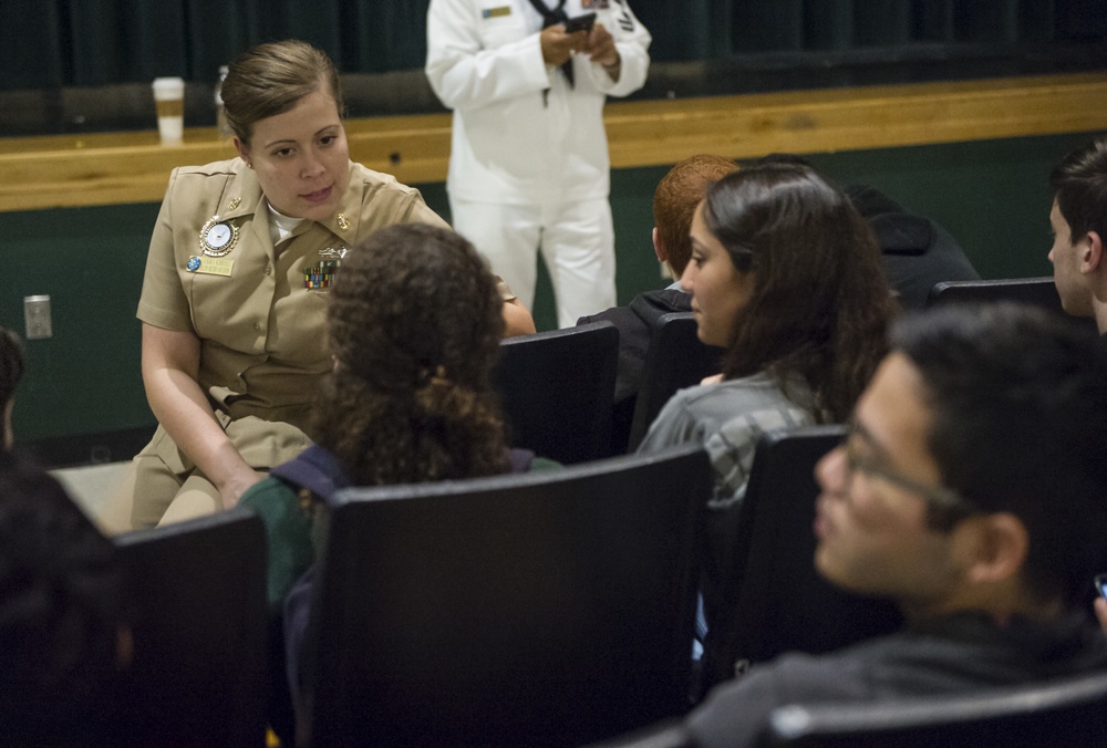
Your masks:
<svg viewBox="0 0 1107 748"><path fill-rule="evenodd" d="M549 269L559 328L615 305L615 249L606 198L498 205L449 196L454 229L473 242L534 311L538 250Z"/></svg>

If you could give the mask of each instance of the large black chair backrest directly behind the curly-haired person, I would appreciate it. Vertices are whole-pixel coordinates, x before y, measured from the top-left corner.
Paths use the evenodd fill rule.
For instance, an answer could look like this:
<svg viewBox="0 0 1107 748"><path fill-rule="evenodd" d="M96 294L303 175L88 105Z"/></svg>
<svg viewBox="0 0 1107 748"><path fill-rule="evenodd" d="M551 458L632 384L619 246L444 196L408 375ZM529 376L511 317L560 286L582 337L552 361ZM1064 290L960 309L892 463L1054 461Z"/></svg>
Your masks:
<svg viewBox="0 0 1107 748"><path fill-rule="evenodd" d="M304 664L311 745L580 745L683 711L706 455L348 489Z"/></svg>

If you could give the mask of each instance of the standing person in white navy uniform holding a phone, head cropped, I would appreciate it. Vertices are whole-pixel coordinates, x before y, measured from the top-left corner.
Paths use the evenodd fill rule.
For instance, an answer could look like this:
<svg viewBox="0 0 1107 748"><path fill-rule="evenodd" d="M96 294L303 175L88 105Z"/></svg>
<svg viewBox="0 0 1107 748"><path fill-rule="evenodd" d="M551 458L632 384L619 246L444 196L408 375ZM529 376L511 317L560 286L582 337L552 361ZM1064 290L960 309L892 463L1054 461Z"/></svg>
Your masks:
<svg viewBox="0 0 1107 748"><path fill-rule="evenodd" d="M570 31L591 13L589 30ZM562 328L615 303L603 103L642 87L650 41L625 0L431 0L427 10L426 74L454 111L454 228L528 309L541 248Z"/></svg>

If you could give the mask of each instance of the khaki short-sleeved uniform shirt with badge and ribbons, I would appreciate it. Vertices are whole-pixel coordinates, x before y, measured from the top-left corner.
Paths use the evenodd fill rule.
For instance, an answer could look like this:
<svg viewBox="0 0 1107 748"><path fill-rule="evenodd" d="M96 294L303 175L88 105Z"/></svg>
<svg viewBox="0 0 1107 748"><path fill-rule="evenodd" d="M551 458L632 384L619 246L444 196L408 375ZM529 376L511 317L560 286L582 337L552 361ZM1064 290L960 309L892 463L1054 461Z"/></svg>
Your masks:
<svg viewBox="0 0 1107 748"><path fill-rule="evenodd" d="M350 168L334 215L301 222L277 249L257 175L240 158L177 168L169 178L137 316L199 337L199 385L225 425L257 416L303 430L332 366L323 326L335 263L379 228L446 226L418 190L360 164ZM221 257L201 245L228 233L211 233L215 224L234 233L214 250Z"/></svg>

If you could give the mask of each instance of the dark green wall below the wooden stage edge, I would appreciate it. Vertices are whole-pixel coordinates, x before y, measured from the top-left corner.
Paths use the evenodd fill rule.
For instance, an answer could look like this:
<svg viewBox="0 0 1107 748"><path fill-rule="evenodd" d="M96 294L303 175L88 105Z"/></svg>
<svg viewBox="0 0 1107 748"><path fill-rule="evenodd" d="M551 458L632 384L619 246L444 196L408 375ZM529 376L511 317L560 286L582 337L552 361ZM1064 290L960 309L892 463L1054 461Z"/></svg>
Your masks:
<svg viewBox="0 0 1107 748"><path fill-rule="evenodd" d="M932 217L985 278L1051 273L1046 176L1093 134L887 148L810 157L840 183L865 183ZM653 188L665 167L612 174L619 301L665 283L650 245ZM442 184L420 185L448 217ZM22 441L153 427L134 318L156 205L0 214L0 322L23 329L25 295L50 294L54 336L28 341L15 404ZM535 318L554 326L548 281Z"/></svg>

